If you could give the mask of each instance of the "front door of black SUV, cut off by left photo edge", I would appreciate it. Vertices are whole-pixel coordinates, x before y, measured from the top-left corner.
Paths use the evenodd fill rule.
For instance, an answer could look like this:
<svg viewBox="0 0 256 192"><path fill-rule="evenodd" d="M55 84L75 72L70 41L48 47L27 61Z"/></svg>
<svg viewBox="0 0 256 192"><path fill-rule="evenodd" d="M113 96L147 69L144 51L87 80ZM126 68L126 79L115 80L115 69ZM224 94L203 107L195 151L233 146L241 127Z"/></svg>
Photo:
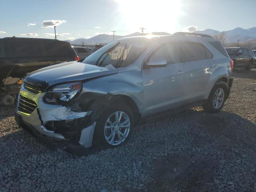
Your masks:
<svg viewBox="0 0 256 192"><path fill-rule="evenodd" d="M0 40L0 83L10 71L11 66L9 64L9 58L6 48L6 40Z"/></svg>

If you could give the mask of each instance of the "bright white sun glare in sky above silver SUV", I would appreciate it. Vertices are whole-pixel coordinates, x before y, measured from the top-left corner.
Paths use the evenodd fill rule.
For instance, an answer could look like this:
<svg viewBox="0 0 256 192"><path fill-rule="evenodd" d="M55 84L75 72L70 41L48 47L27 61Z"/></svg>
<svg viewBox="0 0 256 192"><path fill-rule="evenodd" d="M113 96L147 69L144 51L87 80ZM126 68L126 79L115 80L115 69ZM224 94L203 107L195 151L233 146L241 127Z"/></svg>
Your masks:
<svg viewBox="0 0 256 192"><path fill-rule="evenodd" d="M133 31L176 32L182 14L180 0L116 0L124 24Z"/></svg>

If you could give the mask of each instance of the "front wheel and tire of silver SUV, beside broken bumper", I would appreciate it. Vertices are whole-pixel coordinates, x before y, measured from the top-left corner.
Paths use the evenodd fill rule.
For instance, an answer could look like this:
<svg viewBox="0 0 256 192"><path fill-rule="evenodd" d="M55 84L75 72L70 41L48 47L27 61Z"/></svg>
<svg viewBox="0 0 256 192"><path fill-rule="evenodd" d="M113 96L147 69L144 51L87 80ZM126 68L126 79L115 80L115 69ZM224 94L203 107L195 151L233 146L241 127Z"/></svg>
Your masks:
<svg viewBox="0 0 256 192"><path fill-rule="evenodd" d="M116 122L116 115L121 119ZM109 122L107 122L109 120ZM130 126L128 126L128 122ZM120 127L118 124L125 127ZM134 130L134 114L132 110L125 104L115 104L106 108L102 112L102 116L97 120L93 143L96 146L104 148L115 148L121 146L130 140ZM122 133L122 134L121 134ZM114 138L113 138L114 135ZM109 139L108 139L109 138Z"/></svg>

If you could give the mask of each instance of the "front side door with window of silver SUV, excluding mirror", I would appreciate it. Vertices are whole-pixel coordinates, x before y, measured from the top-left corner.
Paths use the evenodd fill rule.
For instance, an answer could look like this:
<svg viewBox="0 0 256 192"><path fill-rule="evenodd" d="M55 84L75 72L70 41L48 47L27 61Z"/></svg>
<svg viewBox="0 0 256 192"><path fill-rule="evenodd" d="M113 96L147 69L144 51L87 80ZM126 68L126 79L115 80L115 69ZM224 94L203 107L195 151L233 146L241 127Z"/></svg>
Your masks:
<svg viewBox="0 0 256 192"><path fill-rule="evenodd" d="M180 61L178 42L161 44L147 58L145 64L151 58L164 58L167 66L142 70L145 116L175 108L186 98L186 75Z"/></svg>

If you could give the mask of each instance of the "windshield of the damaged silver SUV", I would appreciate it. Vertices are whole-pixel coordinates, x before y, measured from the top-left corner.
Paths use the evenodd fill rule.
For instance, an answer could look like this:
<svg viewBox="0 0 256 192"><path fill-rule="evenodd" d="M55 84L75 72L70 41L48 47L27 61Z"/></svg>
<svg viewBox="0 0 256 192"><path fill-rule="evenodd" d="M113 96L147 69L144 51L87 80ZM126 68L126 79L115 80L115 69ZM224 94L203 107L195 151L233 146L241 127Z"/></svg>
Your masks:
<svg viewBox="0 0 256 192"><path fill-rule="evenodd" d="M100 48L83 63L101 67L125 67L132 64L146 48L146 42L113 41Z"/></svg>

